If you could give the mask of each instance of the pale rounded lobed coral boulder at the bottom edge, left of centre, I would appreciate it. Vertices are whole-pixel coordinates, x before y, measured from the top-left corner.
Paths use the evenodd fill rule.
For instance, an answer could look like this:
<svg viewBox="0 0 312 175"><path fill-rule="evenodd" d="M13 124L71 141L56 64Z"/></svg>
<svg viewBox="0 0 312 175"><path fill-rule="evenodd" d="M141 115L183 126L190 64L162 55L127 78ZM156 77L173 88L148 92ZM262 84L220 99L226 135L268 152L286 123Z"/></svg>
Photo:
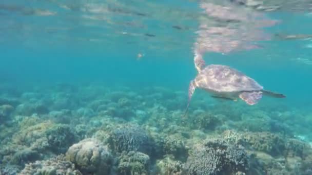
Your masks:
<svg viewBox="0 0 312 175"><path fill-rule="evenodd" d="M108 149L96 139L84 139L66 152L66 160L74 163L84 174L109 174L113 159Z"/></svg>

